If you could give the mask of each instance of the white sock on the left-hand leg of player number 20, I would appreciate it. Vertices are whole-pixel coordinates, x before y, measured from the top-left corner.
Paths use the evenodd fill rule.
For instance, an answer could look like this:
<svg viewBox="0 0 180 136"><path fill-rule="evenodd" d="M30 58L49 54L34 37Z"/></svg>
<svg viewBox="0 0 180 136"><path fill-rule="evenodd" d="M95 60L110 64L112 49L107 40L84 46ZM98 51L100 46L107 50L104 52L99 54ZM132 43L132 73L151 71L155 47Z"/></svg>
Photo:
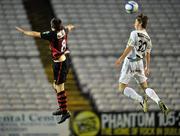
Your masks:
<svg viewBox="0 0 180 136"><path fill-rule="evenodd" d="M124 89L124 95L133 100L143 102L143 97L141 95L139 95L138 93L136 93L136 91L130 87L126 87Z"/></svg>

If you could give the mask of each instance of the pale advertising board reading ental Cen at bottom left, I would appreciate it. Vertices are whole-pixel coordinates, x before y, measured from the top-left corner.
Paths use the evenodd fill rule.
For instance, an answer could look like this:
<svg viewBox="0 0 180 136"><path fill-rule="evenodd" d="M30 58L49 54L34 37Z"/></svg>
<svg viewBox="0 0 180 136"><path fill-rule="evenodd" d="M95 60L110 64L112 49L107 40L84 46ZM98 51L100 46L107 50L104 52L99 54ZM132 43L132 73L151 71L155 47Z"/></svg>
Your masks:
<svg viewBox="0 0 180 136"><path fill-rule="evenodd" d="M57 124L48 111L0 112L0 136L69 136L69 120Z"/></svg>

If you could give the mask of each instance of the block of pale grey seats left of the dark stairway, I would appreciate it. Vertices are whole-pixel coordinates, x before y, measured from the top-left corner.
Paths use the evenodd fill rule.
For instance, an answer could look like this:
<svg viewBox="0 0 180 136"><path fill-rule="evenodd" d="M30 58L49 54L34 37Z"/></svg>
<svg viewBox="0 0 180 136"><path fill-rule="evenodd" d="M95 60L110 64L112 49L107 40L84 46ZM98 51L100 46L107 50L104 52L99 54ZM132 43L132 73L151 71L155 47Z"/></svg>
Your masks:
<svg viewBox="0 0 180 136"><path fill-rule="evenodd" d="M18 25L31 28L23 1L1 0L0 7L0 96L3 97L0 110L39 110L43 108L39 99L47 109L50 101L46 96L53 89L44 73L36 43L15 30Z"/></svg>

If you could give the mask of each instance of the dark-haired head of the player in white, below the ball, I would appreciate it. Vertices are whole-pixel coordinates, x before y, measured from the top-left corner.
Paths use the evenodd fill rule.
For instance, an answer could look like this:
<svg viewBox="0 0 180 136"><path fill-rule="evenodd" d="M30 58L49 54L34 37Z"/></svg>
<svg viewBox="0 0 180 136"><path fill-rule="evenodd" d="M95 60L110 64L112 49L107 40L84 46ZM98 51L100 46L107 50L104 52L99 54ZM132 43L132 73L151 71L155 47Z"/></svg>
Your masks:
<svg viewBox="0 0 180 136"><path fill-rule="evenodd" d="M134 27L135 29L138 29L138 28L146 29L147 22L148 22L148 17L144 16L143 14L140 14L136 17Z"/></svg>

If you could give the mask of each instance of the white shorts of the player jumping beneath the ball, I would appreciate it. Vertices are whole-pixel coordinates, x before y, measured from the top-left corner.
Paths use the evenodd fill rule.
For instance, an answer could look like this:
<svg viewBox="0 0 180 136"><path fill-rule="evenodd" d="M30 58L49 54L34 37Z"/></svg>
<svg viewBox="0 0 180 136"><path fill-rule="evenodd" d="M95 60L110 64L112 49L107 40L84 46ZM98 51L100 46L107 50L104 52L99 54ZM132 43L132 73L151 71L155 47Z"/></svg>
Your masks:
<svg viewBox="0 0 180 136"><path fill-rule="evenodd" d="M144 74L142 59L131 62L128 58L125 58L120 73L119 83L128 84L132 77L134 77L139 83L143 83L147 80L147 77Z"/></svg>

